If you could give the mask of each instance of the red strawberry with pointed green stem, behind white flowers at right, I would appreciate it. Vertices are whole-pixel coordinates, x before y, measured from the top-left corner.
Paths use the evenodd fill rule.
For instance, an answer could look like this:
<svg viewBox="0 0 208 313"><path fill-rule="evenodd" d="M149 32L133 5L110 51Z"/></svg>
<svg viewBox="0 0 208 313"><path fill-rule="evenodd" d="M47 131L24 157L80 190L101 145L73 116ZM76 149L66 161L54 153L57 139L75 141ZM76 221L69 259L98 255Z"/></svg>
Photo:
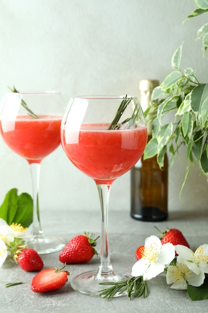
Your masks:
<svg viewBox="0 0 208 313"><path fill-rule="evenodd" d="M173 243L173 245L182 244L182 245L188 246L188 248L190 247L190 245L187 242L186 238L184 237L183 233L179 229L167 228L165 232L161 232L161 233L163 235L163 237L161 238L162 244L167 243L167 242L171 242L171 243Z"/></svg>

